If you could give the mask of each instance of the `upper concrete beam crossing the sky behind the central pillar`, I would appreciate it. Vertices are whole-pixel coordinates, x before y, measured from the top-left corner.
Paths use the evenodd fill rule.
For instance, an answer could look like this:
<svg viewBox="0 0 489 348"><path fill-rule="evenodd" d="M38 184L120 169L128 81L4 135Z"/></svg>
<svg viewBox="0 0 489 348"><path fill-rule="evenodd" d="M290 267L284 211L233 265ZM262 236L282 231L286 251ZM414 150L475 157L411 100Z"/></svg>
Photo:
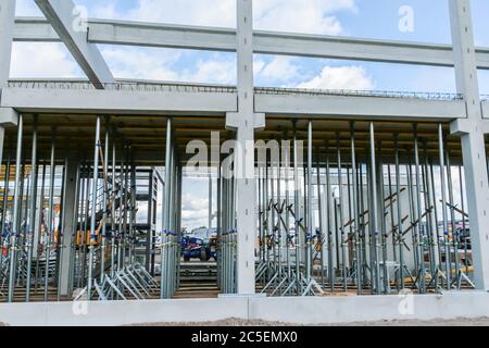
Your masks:
<svg viewBox="0 0 489 348"><path fill-rule="evenodd" d="M55 36L46 28L41 20L21 17L16 20L14 40L53 41ZM89 21L88 41L105 45L236 51L234 29L126 21ZM253 45L255 53L264 54L436 66L454 65L452 48L449 45L275 32L255 32ZM477 62L479 69L489 69L489 48L477 49Z"/></svg>

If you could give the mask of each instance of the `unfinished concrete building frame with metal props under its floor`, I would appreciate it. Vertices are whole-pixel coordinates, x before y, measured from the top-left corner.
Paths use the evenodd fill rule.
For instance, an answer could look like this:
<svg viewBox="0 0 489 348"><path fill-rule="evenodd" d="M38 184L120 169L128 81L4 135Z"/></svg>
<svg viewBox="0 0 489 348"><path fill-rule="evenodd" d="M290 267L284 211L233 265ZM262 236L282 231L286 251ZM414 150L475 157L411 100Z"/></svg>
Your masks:
<svg viewBox="0 0 489 348"><path fill-rule="evenodd" d="M489 48L469 0L447 0L451 46L254 30L236 1L234 29L85 30L72 0L35 0L43 17L1 1L0 322L489 316ZM86 79L10 78L16 41L62 42ZM235 52L237 85L116 79L101 44ZM256 53L452 67L456 92L256 87ZM192 177L201 238L183 228Z"/></svg>

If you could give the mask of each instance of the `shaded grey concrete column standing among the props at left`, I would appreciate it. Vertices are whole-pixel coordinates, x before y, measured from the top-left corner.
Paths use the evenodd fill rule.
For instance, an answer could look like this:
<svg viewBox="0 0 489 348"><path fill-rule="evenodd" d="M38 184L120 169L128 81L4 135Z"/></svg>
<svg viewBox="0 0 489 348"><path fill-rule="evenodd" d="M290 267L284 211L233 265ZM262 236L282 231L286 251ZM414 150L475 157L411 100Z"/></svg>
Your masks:
<svg viewBox="0 0 489 348"><path fill-rule="evenodd" d="M78 191L78 162L68 160L65 169L65 191L63 201L63 246L61 248L61 263L60 263L60 295L71 296L72 286L72 261L74 243L74 233L76 228L75 209L76 197Z"/></svg>

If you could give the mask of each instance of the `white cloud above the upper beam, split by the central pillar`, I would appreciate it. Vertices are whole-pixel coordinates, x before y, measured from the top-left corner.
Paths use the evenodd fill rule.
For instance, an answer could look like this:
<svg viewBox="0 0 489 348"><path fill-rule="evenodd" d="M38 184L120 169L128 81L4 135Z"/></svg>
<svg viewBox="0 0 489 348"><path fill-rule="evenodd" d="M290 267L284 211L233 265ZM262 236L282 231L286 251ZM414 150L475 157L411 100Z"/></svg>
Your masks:
<svg viewBox="0 0 489 348"><path fill-rule="evenodd" d="M112 0L89 10L91 15L105 18L236 26L236 0L138 0L127 11L117 11ZM340 11L356 12L355 0L260 0L254 2L254 26L256 29L338 35L343 28L334 14Z"/></svg>

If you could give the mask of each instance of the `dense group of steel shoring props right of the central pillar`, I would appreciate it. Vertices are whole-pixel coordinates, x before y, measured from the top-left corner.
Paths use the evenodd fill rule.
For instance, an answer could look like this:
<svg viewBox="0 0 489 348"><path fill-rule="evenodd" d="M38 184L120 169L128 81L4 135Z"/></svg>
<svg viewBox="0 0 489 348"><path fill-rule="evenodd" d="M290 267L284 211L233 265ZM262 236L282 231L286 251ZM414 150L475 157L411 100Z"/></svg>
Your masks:
<svg viewBox="0 0 489 348"><path fill-rule="evenodd" d="M344 130L322 135L321 145L313 142L314 122L299 123L305 163L290 164L283 154L283 161L271 164L268 157L256 170L261 293L426 294L475 287L468 214L460 209L464 170L451 156L460 145L450 139L449 148L442 124L434 124L436 133L424 138L417 124L411 135L377 137L375 124L362 122L359 141L356 123L346 122ZM294 159L297 125L289 127ZM436 146L428 149L426 137Z"/></svg>

